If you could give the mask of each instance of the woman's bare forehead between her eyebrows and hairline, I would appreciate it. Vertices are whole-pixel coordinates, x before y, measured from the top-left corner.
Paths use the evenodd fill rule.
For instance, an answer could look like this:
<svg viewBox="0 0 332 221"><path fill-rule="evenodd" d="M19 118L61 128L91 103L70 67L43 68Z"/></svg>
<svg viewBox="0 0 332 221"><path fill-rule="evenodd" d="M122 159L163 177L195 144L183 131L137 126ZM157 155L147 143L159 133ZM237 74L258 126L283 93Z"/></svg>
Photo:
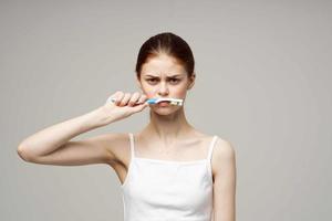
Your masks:
<svg viewBox="0 0 332 221"><path fill-rule="evenodd" d="M173 75L186 75L184 66L177 62L176 59L160 54L154 57L149 57L146 63L142 65L141 74L153 76L173 76Z"/></svg>

